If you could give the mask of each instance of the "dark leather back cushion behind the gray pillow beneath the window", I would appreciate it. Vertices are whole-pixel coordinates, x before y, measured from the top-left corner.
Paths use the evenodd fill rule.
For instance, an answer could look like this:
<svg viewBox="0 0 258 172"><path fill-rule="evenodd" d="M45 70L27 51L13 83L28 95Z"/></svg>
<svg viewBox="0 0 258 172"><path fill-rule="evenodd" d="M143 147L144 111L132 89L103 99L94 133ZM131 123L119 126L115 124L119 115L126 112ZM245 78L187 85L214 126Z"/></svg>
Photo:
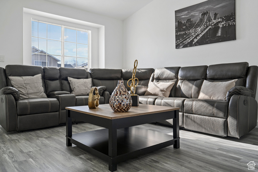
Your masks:
<svg viewBox="0 0 258 172"><path fill-rule="evenodd" d="M91 78L89 72L85 69L78 69L78 68L59 68L60 72L60 81L62 91L72 92L70 83L68 81L68 77L75 78L75 79L88 79Z"/></svg>

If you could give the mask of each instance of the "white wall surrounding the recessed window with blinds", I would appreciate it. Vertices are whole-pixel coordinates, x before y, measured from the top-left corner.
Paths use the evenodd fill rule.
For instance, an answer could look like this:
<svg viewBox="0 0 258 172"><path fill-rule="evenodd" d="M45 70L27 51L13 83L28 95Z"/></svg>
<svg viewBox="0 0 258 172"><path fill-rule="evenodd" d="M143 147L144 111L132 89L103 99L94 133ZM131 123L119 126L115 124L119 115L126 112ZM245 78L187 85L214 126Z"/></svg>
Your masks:
<svg viewBox="0 0 258 172"><path fill-rule="evenodd" d="M104 34L101 34L104 37L104 50L99 55L97 65L101 68L123 67L122 21L44 0L0 1L0 55L5 56L5 62L0 62L0 67L4 68L7 64L23 64L23 8L104 26L100 29L104 30ZM99 37L96 41L98 39ZM103 59L104 63L99 62ZM94 66L96 67L95 64Z"/></svg>

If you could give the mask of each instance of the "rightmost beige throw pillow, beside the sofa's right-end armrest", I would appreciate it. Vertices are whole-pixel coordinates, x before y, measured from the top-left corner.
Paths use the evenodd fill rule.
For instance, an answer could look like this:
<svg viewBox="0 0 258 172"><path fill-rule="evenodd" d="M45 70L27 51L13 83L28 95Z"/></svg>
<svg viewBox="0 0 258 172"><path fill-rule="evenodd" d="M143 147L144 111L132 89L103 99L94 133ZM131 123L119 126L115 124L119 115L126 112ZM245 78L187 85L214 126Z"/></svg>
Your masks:
<svg viewBox="0 0 258 172"><path fill-rule="evenodd" d="M204 80L198 99L226 101L227 92L235 87L237 79L226 82L209 82Z"/></svg>

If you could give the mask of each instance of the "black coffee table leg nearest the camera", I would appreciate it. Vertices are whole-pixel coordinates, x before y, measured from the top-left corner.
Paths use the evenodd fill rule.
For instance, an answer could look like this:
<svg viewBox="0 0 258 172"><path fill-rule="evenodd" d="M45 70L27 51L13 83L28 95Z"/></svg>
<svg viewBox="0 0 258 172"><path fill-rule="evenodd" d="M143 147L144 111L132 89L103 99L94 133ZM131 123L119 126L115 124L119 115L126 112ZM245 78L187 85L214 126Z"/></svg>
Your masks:
<svg viewBox="0 0 258 172"><path fill-rule="evenodd" d="M116 119L112 119L108 129L108 156L116 157L117 156L117 126ZM117 162L114 159L109 159L108 162L109 171L116 171Z"/></svg>

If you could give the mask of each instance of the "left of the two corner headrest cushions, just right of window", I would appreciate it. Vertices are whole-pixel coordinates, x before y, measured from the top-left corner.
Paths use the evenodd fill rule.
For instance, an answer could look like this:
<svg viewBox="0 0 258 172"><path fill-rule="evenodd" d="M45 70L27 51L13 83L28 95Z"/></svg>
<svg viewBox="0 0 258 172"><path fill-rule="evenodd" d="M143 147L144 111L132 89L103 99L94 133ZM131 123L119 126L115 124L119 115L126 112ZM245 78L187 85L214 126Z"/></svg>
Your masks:
<svg viewBox="0 0 258 172"><path fill-rule="evenodd" d="M100 79L100 80L121 80L122 79L122 69L90 69L89 72L91 73L92 79ZM103 75L103 73L105 75Z"/></svg>

